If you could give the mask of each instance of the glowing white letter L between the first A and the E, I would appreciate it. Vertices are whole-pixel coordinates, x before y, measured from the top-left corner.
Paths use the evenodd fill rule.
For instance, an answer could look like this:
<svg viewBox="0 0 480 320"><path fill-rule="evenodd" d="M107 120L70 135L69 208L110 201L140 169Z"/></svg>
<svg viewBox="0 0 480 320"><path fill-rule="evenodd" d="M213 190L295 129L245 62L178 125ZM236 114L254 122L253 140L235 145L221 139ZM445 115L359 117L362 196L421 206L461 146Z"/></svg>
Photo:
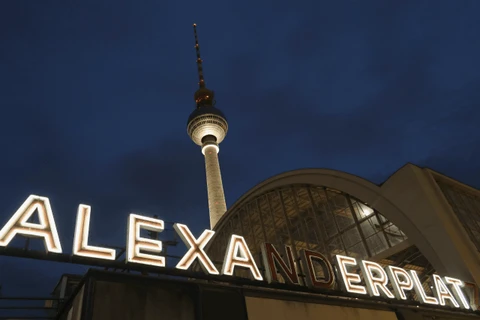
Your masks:
<svg viewBox="0 0 480 320"><path fill-rule="evenodd" d="M85 204L80 204L78 206L77 223L75 225L75 235L73 237L73 254L95 259L115 260L116 252L114 249L88 245L90 213L90 206Z"/></svg>

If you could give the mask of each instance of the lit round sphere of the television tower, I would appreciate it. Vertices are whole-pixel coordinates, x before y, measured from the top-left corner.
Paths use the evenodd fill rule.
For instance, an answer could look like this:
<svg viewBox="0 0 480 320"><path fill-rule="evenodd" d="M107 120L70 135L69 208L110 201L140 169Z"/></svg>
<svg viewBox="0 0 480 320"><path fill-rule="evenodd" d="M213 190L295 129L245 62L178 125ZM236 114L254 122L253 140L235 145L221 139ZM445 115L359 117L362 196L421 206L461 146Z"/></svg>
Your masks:
<svg viewBox="0 0 480 320"><path fill-rule="evenodd" d="M188 117L188 135L199 146L203 146L202 139L208 135L214 136L215 142L219 144L227 135L227 131L227 119L213 106L196 108Z"/></svg>

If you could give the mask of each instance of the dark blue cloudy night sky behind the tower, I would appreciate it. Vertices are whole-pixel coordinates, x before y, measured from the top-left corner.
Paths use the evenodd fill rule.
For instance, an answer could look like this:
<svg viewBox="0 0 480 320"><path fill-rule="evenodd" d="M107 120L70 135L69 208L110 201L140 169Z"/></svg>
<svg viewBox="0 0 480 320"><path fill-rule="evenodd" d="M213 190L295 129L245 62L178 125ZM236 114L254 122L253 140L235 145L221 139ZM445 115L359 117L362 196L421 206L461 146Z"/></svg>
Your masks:
<svg viewBox="0 0 480 320"><path fill-rule="evenodd" d="M308 167L381 183L412 162L480 187L478 0L65 2L0 2L1 226L37 194L65 252L80 203L94 245L125 246L131 212L209 227L194 22L230 126L227 206ZM85 270L0 257L0 284L47 295Z"/></svg>

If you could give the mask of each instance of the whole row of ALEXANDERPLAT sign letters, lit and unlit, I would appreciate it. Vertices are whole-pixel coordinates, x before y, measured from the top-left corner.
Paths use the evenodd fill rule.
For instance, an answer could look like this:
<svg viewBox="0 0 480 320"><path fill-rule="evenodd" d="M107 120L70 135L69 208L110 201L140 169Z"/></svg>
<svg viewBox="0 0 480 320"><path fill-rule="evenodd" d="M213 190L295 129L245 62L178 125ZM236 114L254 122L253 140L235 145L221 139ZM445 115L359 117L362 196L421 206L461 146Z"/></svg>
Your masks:
<svg viewBox="0 0 480 320"><path fill-rule="evenodd" d="M29 221L35 212L38 214L38 223ZM90 259L115 260L114 249L89 244L90 218L90 206L80 204L72 255ZM396 266L384 268L373 261L359 261L343 255L336 255L334 268L319 252L301 250L300 257L296 257L291 247L285 246L280 252L280 248L275 248L270 243L264 243L261 246L265 267L262 275L247 242L240 235L231 235L219 271L205 251L212 239L215 239L214 231L204 230L198 238L195 238L186 225L175 223L173 227L187 246L187 252L175 266L180 270L188 270L194 262L197 262L208 275L233 276L236 268L242 268L247 270L253 279L267 283L281 282L280 275L285 283L292 285L332 289L338 283L348 293L397 300L407 300L408 293L412 292L422 304L463 309L477 308L476 304L469 301L470 299L465 295L465 283L459 279L433 274L430 276L433 296L429 296L414 270L407 271ZM164 222L134 213L129 215L125 262L165 268L166 259L161 255L162 241L142 237L142 230L162 232ZM48 198L31 195L25 200L0 230L0 247L7 247L16 235L41 238L44 240L47 252L62 253ZM358 271L361 271L361 275Z"/></svg>

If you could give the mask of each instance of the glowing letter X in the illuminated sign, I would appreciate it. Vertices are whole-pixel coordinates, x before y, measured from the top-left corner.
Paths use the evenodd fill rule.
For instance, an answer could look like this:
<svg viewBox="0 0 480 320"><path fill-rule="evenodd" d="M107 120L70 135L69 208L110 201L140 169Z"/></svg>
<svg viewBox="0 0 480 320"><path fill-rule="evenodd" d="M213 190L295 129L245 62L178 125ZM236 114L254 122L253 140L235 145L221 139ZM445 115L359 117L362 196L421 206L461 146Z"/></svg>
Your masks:
<svg viewBox="0 0 480 320"><path fill-rule="evenodd" d="M190 232L190 229L188 229L186 225L175 223L173 228L175 231L177 231L183 243L185 243L185 245L189 248L180 262L178 262L176 268L187 270L195 261L195 259L198 259L201 262L200 265L205 273L215 275L219 274L212 260L210 260L210 258L207 256L207 253L204 251L205 247L208 245L208 242L215 234L215 231L205 230L198 239L195 239L193 234Z"/></svg>

